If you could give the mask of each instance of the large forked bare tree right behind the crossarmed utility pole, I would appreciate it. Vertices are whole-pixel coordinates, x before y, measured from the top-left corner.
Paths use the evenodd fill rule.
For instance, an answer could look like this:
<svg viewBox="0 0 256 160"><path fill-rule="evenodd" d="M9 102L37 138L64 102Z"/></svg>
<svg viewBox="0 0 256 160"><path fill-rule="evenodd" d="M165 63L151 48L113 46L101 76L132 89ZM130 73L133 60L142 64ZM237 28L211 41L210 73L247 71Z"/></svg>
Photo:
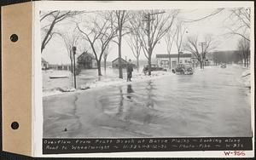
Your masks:
<svg viewBox="0 0 256 160"><path fill-rule="evenodd" d="M148 59L148 75L151 75L151 59L154 47L160 42L160 39L170 31L173 21L176 18L178 10L171 10L168 13L163 10L148 10L138 13L137 19L145 22L138 29L139 39L143 46L143 53Z"/></svg>

